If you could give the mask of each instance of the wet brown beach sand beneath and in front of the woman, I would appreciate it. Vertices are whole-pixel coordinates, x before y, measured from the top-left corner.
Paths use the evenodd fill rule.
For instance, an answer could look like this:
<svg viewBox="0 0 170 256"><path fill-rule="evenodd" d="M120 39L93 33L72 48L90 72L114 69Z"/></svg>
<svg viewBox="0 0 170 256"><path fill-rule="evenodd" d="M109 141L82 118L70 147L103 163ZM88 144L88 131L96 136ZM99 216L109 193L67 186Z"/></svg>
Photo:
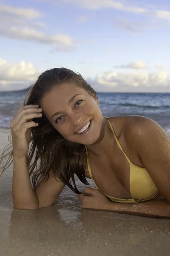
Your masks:
<svg viewBox="0 0 170 256"><path fill-rule="evenodd" d="M8 135L0 130L0 154ZM0 178L0 256L170 255L170 219L82 209L67 187L51 207L14 209L12 171Z"/></svg>

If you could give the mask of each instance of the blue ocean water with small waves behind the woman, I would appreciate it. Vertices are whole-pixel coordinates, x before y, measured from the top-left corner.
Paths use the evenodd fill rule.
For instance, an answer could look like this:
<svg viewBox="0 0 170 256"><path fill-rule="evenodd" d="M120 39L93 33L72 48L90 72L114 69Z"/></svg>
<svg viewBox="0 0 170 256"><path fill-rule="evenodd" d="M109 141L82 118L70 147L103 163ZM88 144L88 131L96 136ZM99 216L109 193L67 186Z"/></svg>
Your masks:
<svg viewBox="0 0 170 256"><path fill-rule="evenodd" d="M28 89L0 92L0 128L10 128ZM97 93L104 116L146 116L170 136L170 93Z"/></svg>

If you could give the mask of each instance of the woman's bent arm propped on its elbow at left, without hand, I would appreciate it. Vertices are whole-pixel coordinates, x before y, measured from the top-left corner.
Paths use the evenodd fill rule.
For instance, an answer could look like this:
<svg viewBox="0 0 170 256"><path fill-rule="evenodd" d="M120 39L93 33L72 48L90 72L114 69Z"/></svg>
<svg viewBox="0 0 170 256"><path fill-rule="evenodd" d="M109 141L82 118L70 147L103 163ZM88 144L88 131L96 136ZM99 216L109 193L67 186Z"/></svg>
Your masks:
<svg viewBox="0 0 170 256"><path fill-rule="evenodd" d="M60 181L60 182L58 182ZM48 207L54 204L65 184L52 171L45 181L41 182L34 192L28 172L27 157L14 157L14 172L12 180L12 198L14 208L32 210Z"/></svg>

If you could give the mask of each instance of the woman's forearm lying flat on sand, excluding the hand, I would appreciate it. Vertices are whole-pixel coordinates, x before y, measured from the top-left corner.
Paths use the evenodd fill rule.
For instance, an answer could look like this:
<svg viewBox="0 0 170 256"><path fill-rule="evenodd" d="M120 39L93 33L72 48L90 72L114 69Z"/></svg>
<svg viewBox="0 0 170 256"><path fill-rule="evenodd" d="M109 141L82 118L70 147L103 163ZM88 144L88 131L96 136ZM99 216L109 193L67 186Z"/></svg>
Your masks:
<svg viewBox="0 0 170 256"><path fill-rule="evenodd" d="M153 218L170 218L170 204L165 200L150 200L136 204L109 202L105 206L105 210Z"/></svg>

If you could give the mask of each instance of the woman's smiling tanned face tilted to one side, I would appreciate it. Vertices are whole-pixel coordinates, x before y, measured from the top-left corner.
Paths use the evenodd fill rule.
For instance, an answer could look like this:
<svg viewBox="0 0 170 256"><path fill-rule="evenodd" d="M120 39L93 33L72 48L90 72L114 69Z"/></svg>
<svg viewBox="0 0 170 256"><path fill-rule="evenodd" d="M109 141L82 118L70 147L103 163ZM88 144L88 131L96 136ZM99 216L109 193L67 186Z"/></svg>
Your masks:
<svg viewBox="0 0 170 256"><path fill-rule="evenodd" d="M46 93L41 103L42 113L65 139L91 145L99 138L102 112L98 100L85 89L74 83L61 84ZM77 134L89 120L91 125L88 134Z"/></svg>

